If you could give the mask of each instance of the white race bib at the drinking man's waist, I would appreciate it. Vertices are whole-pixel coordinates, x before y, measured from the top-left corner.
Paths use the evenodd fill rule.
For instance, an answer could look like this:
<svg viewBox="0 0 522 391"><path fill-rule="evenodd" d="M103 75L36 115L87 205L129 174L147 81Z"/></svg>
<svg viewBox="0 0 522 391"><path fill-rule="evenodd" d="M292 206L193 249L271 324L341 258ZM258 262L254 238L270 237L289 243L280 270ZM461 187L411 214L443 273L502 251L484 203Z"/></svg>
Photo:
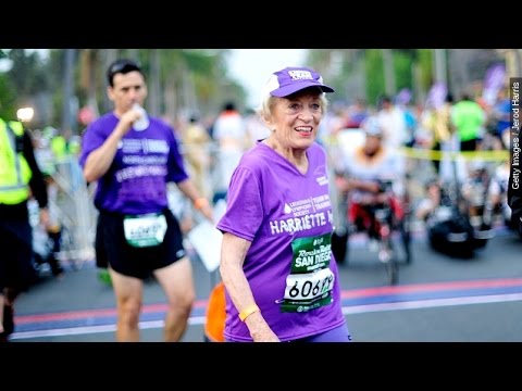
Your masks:
<svg viewBox="0 0 522 391"><path fill-rule="evenodd" d="M153 247L163 243L166 219L163 214L125 216L123 229L127 243L136 248Z"/></svg>

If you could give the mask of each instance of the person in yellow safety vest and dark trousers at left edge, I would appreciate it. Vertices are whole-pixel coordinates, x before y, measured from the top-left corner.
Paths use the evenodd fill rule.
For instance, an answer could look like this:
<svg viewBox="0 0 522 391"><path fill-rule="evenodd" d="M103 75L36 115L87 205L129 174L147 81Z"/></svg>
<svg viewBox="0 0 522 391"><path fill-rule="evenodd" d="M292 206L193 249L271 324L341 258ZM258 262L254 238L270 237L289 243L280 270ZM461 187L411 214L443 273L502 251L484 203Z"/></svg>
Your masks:
<svg viewBox="0 0 522 391"><path fill-rule="evenodd" d="M33 140L22 123L0 118L0 342L14 331L13 303L36 280L27 201L34 197L48 224L47 188Z"/></svg>

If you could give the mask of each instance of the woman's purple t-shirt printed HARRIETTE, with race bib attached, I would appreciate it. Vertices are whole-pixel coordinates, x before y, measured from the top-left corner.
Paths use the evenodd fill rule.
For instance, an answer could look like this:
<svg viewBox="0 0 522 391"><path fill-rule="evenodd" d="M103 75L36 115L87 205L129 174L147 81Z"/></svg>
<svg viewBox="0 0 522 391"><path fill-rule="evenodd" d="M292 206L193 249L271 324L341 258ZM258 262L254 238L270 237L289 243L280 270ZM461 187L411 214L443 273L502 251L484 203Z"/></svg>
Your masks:
<svg viewBox="0 0 522 391"><path fill-rule="evenodd" d="M221 231L251 241L244 272L256 303L279 340L331 330L345 323L337 264L332 256L333 212L326 155L308 150L301 174L266 144L247 151L231 180ZM251 341L226 295L225 337Z"/></svg>

